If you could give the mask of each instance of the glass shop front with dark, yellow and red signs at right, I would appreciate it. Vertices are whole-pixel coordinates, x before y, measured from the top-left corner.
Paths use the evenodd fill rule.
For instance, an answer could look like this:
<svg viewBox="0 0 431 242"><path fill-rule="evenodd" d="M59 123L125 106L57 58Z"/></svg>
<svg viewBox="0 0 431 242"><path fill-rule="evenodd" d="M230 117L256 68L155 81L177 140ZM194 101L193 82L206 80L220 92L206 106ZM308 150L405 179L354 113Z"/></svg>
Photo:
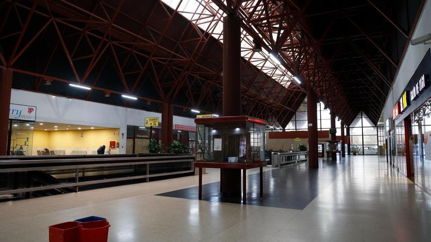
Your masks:
<svg viewBox="0 0 431 242"><path fill-rule="evenodd" d="M393 111L393 165L431 191L431 54L430 49L410 78Z"/></svg>

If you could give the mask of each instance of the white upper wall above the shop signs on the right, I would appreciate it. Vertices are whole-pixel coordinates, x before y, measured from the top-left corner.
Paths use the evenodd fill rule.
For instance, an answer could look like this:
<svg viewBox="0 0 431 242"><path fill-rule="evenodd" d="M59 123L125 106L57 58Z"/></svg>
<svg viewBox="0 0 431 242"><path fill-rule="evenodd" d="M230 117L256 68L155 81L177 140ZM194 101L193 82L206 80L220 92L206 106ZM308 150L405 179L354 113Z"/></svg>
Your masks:
<svg viewBox="0 0 431 242"><path fill-rule="evenodd" d="M427 0L414 30L412 39L431 33L430 23L431 0ZM387 95L386 103L383 108L383 121L385 126L386 120L388 118L392 119L392 109L429 48L429 44L418 44L414 46L411 44L408 45L406 55L401 63L398 75L395 77L394 84Z"/></svg>

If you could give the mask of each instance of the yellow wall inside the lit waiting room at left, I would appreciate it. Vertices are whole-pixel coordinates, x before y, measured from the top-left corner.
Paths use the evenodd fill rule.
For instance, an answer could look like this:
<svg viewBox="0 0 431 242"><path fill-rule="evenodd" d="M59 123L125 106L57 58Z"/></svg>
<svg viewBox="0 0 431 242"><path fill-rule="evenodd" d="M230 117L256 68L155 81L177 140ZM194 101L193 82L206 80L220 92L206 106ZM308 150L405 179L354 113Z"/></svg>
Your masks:
<svg viewBox="0 0 431 242"><path fill-rule="evenodd" d="M49 150L65 150L65 154L71 154L72 150L87 151L91 154L101 145L105 145L105 151L109 150L109 141L120 141L120 129L96 129L96 130L67 130L67 131L34 131L33 150L48 148ZM81 137L82 133L82 137ZM118 148L112 149L111 154L118 154Z"/></svg>

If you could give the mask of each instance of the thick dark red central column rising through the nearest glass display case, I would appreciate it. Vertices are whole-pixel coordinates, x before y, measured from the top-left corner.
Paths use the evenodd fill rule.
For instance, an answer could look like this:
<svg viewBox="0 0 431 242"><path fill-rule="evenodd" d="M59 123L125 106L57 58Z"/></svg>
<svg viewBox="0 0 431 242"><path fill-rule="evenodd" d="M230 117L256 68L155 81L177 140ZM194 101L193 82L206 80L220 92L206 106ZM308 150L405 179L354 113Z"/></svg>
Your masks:
<svg viewBox="0 0 431 242"><path fill-rule="evenodd" d="M241 21L238 15L223 18L223 116L241 115ZM241 196L241 170L221 169L225 197Z"/></svg>

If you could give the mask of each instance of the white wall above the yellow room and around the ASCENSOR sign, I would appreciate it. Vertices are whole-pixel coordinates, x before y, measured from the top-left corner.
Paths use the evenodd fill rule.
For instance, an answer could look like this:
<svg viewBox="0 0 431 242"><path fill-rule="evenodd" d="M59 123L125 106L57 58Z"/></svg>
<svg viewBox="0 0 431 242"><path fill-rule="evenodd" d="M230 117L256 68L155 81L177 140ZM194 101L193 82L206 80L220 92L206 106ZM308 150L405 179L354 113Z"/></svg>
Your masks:
<svg viewBox="0 0 431 242"><path fill-rule="evenodd" d="M36 121L120 128L120 154L126 153L127 125L143 126L144 117L162 114L77 99L12 89L11 103L37 107ZM173 125L195 126L192 118L173 116ZM121 136L124 133L124 137Z"/></svg>

